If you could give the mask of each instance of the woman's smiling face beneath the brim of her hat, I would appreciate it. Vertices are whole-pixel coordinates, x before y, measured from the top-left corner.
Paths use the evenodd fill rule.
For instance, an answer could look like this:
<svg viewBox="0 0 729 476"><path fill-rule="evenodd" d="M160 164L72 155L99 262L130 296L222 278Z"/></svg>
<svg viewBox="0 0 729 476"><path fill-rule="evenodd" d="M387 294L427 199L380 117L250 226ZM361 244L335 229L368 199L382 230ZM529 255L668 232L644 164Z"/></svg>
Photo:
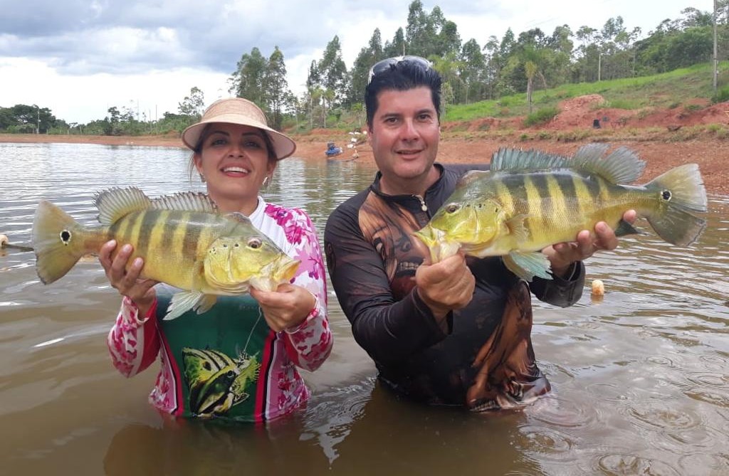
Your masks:
<svg viewBox="0 0 729 476"><path fill-rule="evenodd" d="M204 134L195 166L205 177L211 198L219 206L241 202L250 208L251 200L257 203L265 177L276 168L264 132L248 125L213 123Z"/></svg>

